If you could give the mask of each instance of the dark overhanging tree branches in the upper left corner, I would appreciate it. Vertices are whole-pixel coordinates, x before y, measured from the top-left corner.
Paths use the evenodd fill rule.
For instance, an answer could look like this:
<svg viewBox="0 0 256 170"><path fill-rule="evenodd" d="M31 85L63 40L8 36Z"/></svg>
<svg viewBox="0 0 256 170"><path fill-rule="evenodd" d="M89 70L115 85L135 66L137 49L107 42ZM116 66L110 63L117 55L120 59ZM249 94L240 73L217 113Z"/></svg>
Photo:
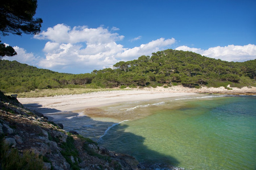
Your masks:
<svg viewBox="0 0 256 170"><path fill-rule="evenodd" d="M39 33L43 20L41 18L33 18L36 14L37 6L36 0L1 1L0 35L7 36L12 33L21 36L22 33ZM0 44L0 58L14 55L16 55L16 52L11 46Z"/></svg>

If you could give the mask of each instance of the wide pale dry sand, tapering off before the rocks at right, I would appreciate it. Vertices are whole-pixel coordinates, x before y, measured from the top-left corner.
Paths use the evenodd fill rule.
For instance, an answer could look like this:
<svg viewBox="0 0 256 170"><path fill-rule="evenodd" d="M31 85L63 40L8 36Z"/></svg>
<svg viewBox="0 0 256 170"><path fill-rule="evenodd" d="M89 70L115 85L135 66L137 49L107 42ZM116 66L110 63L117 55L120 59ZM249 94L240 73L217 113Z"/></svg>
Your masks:
<svg viewBox="0 0 256 170"><path fill-rule="evenodd" d="M93 92L80 95L62 95L53 97L18 98L25 107L36 112L47 114L57 112L81 111L88 108L97 108L106 105L118 104L129 101L143 101L196 95L189 92L159 92L145 90L106 91Z"/></svg>

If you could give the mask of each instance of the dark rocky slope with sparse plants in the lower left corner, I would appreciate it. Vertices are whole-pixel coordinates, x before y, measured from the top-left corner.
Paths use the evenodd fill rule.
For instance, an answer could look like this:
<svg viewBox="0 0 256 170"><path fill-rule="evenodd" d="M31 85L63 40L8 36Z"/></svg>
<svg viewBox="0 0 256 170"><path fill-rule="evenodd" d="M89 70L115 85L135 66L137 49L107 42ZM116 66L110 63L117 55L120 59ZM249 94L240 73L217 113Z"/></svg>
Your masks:
<svg viewBox="0 0 256 170"><path fill-rule="evenodd" d="M2 169L5 169L5 158L16 150L20 158L37 155L31 159L38 158L36 161L38 166L42 164L42 169L139 169L139 162L132 156L109 151L74 131L68 133L61 128L61 125L48 121L42 114L24 108L16 99L1 93Z"/></svg>

